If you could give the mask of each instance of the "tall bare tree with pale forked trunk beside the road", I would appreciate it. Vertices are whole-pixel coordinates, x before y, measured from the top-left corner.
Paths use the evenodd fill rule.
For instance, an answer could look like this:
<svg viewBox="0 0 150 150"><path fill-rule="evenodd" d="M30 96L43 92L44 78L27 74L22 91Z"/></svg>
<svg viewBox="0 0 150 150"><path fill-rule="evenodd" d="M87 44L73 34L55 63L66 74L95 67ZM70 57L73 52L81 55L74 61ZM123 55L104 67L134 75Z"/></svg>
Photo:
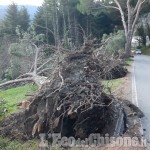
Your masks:
<svg viewBox="0 0 150 150"><path fill-rule="evenodd" d="M126 2L121 0L113 0L113 1L103 1L103 2L107 2L108 5L106 6L105 3L99 1L99 3L102 6L106 8L115 8L120 12L122 24L125 31L125 37L126 37L125 53L126 56L128 57L131 54L131 41L134 34L135 25L138 20L142 6L146 2L146 0L137 0L137 1L127 0Z"/></svg>

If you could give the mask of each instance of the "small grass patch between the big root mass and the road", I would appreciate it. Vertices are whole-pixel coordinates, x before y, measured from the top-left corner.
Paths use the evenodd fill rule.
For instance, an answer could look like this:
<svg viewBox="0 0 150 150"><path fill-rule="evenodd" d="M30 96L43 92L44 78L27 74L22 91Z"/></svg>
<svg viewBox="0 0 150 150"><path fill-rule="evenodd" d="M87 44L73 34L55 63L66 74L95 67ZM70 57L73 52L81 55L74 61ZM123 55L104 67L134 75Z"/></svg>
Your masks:
<svg viewBox="0 0 150 150"><path fill-rule="evenodd" d="M113 79L113 80L102 80L102 84L105 86L104 92L110 94L109 89L111 92L116 91L119 89L124 83L124 78Z"/></svg>

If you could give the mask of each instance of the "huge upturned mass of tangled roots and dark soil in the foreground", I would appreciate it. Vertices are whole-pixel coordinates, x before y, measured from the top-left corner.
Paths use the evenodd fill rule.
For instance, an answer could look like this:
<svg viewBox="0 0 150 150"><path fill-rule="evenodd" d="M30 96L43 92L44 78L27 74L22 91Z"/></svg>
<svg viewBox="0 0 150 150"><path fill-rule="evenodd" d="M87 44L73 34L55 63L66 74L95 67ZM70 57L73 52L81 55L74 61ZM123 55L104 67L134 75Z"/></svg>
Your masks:
<svg viewBox="0 0 150 150"><path fill-rule="evenodd" d="M91 133L123 134L126 115L123 105L104 92L100 82L103 63L92 50L67 54L32 98L29 109L0 122L0 134L24 140L39 133L61 133L81 139Z"/></svg>

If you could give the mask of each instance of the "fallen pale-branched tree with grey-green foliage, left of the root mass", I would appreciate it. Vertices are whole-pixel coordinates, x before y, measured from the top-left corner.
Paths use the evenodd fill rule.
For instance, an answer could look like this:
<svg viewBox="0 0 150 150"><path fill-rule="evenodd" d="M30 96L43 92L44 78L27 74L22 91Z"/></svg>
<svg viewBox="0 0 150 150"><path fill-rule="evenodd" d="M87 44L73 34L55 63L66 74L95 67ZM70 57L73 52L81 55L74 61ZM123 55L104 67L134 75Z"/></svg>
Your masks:
<svg viewBox="0 0 150 150"><path fill-rule="evenodd" d="M9 48L10 71L14 72L14 80L0 84L0 88L21 82L34 82L40 88L46 82L46 71L55 67L55 62L59 57L58 47L44 44L43 34L36 35L34 29L30 32L21 33L17 27L19 42L13 43ZM50 51L46 56L46 51Z"/></svg>

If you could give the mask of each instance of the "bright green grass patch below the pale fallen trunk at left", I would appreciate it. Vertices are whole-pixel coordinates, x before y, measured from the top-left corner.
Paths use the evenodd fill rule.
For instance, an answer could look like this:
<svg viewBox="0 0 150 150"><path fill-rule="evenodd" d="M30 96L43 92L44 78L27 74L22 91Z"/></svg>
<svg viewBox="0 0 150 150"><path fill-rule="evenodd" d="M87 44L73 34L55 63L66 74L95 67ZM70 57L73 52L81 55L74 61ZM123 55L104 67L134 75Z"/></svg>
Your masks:
<svg viewBox="0 0 150 150"><path fill-rule="evenodd" d="M4 99L6 101L6 106L8 109L8 113L6 115L16 112L17 111L16 103L25 100L27 98L25 96L27 93L32 93L35 92L36 90L37 90L36 85L27 84L24 86L18 86L15 88L0 91L0 99Z"/></svg>

